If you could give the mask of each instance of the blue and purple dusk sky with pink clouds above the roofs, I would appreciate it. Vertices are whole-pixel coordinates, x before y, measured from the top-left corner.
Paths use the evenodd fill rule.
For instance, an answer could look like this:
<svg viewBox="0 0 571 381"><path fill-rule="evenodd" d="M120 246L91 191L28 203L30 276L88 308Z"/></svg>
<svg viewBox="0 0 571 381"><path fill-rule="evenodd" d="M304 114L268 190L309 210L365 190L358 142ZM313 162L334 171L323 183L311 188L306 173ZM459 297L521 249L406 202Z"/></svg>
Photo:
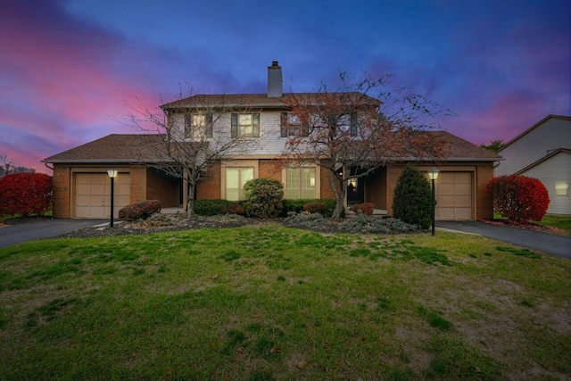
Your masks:
<svg viewBox="0 0 571 381"><path fill-rule="evenodd" d="M43 162L140 131L125 102L285 92L340 71L393 82L450 109L474 144L507 143L571 116L569 0L0 0L0 156Z"/></svg>

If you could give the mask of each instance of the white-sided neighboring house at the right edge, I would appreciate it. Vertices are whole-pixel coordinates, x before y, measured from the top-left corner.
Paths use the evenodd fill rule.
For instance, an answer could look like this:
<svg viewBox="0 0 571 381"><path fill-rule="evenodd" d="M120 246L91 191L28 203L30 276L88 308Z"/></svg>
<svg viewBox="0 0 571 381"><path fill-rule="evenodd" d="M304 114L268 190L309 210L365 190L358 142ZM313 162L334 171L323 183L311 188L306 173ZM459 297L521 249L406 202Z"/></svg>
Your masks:
<svg viewBox="0 0 571 381"><path fill-rule="evenodd" d="M498 150L505 159L495 176L542 181L550 194L548 214L571 215L571 117L548 115Z"/></svg>

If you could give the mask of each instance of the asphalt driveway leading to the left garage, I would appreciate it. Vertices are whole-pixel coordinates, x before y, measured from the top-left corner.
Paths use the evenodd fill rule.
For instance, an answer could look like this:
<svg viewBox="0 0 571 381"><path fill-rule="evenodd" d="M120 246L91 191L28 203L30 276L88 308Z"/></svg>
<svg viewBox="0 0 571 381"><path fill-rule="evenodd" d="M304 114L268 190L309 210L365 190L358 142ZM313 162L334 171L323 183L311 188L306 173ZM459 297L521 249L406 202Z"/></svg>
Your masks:
<svg viewBox="0 0 571 381"><path fill-rule="evenodd" d="M0 228L0 248L33 241L35 239L57 236L79 228L88 228L104 224L108 219L46 219Z"/></svg>

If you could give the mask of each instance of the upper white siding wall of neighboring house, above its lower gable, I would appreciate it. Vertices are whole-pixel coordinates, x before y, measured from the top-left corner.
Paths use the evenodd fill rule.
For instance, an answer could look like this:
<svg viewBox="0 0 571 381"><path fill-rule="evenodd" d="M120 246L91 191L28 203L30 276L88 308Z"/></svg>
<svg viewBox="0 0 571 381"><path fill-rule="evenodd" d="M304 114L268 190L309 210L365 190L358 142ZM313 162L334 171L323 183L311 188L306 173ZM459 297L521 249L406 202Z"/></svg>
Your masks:
<svg viewBox="0 0 571 381"><path fill-rule="evenodd" d="M495 176L511 175L547 156L550 150L570 147L571 120L551 117L498 152L505 160L495 169Z"/></svg>

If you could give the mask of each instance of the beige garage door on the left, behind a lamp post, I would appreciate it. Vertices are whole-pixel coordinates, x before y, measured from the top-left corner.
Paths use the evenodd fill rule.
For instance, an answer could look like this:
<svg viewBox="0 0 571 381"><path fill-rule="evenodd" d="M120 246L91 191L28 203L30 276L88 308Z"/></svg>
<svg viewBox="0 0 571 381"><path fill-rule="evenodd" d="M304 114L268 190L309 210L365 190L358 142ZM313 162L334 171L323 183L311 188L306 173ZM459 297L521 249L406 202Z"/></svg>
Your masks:
<svg viewBox="0 0 571 381"><path fill-rule="evenodd" d="M119 173L115 178L114 216L130 200L130 176ZM110 218L111 178L107 173L75 174L75 216L88 219Z"/></svg>

